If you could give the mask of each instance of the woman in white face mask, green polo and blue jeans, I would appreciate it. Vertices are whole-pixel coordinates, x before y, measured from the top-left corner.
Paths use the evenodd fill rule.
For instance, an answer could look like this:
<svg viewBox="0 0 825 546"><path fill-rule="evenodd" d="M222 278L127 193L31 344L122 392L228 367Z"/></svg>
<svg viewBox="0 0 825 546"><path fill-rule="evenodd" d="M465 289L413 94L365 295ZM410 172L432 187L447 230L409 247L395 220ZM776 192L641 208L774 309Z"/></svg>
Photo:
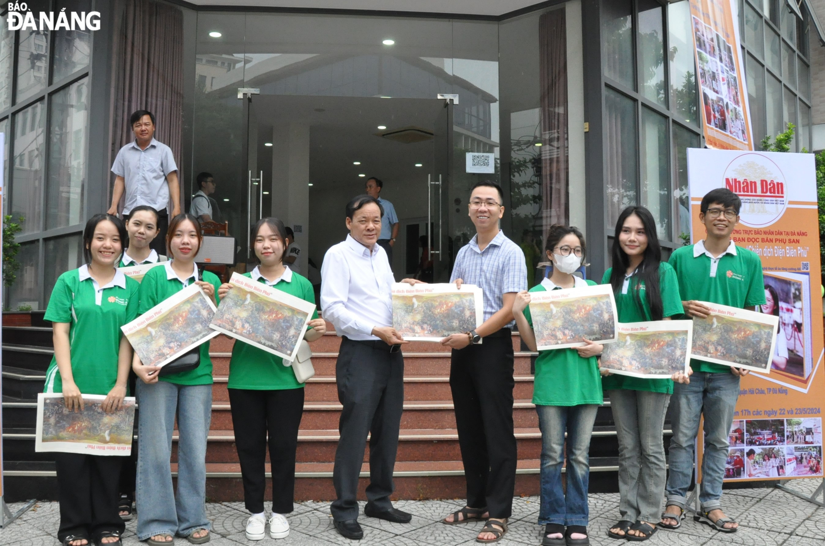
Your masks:
<svg viewBox="0 0 825 546"><path fill-rule="evenodd" d="M582 232L562 225L550 226L545 254L553 262L553 275L530 292L596 285L573 275L582 266L586 247ZM521 339L536 350L530 292L522 291L513 302ZM587 452L596 410L603 402L596 355L601 345L588 343L577 349L540 351L535 359L533 403L541 429L541 507L544 546L587 546L587 485L590 464ZM562 487L564 433L567 432L567 492Z"/></svg>

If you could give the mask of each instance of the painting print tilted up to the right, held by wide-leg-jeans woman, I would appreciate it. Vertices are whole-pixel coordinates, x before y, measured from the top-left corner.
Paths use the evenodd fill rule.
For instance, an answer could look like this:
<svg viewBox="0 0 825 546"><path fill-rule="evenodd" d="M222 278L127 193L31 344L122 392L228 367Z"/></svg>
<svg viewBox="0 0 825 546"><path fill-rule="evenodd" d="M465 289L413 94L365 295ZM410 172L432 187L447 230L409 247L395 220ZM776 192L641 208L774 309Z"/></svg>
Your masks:
<svg viewBox="0 0 825 546"><path fill-rule="evenodd" d="M209 327L214 310L200 286L191 284L120 330L144 365L163 366L219 334Z"/></svg>

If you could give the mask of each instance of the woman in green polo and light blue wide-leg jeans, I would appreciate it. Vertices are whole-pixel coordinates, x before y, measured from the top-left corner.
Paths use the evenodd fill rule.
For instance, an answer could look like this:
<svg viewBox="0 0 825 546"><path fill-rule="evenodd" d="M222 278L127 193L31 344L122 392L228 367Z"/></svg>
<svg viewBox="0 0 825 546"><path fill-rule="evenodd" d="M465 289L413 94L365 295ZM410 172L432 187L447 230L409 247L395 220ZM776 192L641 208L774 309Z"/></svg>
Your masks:
<svg viewBox="0 0 825 546"><path fill-rule="evenodd" d="M191 214L177 214L166 236L168 256L163 266L150 269L140 283L140 313L191 283L218 303L220 281L200 271L195 257L203 242L200 224ZM138 539L150 546L171 544L175 534L192 544L210 540L206 518L206 437L212 417L212 361L209 343L200 346L196 369L158 377L160 368L146 366L134 355L138 422ZM172 488L169 459L177 415L177 496Z"/></svg>

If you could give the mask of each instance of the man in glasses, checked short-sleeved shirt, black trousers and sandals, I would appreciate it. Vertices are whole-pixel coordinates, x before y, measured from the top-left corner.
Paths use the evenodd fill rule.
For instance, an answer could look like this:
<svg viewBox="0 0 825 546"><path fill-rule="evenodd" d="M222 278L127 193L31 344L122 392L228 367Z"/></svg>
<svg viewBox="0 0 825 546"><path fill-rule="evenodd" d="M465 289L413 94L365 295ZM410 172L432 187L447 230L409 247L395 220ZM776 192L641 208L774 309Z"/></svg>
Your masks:
<svg viewBox="0 0 825 546"><path fill-rule="evenodd" d="M452 349L450 390L467 482L467 506L442 521L488 520L478 536L482 541L507 532L516 487L510 328L516 294L527 289L527 268L524 252L498 227L502 201L502 189L493 182L479 181L470 191L469 218L476 234L455 257L450 282L481 287L484 322L441 340Z"/></svg>

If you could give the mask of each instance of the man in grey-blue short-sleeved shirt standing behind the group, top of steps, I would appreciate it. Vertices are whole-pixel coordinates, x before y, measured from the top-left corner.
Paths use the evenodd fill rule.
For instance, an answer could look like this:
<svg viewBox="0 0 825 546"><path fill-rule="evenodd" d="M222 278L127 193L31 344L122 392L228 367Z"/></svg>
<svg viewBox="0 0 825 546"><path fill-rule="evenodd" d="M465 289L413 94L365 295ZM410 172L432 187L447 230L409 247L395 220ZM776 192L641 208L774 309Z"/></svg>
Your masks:
<svg viewBox="0 0 825 546"><path fill-rule="evenodd" d="M181 214L181 187L177 180L177 164L172 149L154 139L155 120L150 111L135 111L129 120L134 140L126 144L115 157L111 172L115 187L111 206L106 212L117 214L124 193L123 218L138 205L148 205L158 211L158 237L150 247L166 254L166 230L169 225L167 206L172 201L172 217Z"/></svg>

